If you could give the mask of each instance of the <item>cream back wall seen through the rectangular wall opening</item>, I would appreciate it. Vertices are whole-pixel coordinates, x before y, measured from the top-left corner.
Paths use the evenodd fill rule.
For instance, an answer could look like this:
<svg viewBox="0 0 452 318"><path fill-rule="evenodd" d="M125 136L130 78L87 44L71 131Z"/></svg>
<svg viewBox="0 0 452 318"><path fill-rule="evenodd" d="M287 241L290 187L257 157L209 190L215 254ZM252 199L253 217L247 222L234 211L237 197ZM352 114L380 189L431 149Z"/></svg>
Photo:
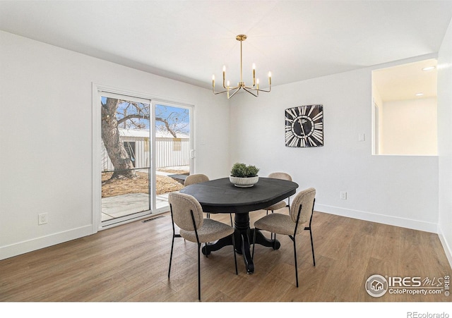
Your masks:
<svg viewBox="0 0 452 318"><path fill-rule="evenodd" d="M436 110L435 97L383 102L379 154L435 156Z"/></svg>

